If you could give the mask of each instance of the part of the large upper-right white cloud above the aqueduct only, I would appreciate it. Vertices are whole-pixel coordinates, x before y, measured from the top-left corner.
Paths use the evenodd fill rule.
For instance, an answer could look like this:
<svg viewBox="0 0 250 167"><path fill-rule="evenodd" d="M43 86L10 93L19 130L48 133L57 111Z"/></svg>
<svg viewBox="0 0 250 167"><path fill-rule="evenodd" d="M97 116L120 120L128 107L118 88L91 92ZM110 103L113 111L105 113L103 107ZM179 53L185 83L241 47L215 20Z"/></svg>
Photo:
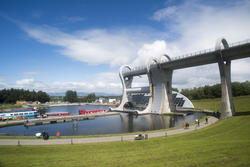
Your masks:
<svg viewBox="0 0 250 167"><path fill-rule="evenodd" d="M167 44L176 45L180 54L214 47L220 37L228 42L250 38L250 3L247 1L223 6L185 1L174 7L171 17L165 16L160 21L176 35L176 40Z"/></svg>

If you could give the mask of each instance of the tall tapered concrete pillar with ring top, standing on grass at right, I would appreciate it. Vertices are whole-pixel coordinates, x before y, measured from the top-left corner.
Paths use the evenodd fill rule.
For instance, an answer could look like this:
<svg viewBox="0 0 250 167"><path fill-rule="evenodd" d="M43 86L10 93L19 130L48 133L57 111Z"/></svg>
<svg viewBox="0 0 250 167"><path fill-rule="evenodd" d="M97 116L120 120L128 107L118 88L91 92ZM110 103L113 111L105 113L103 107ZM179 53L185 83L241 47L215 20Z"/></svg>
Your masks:
<svg viewBox="0 0 250 167"><path fill-rule="evenodd" d="M231 61L224 62L221 52L221 44L228 48L228 43L224 38L217 40L215 50L218 51L217 59L221 78L221 119L235 115L232 86L231 86Z"/></svg>

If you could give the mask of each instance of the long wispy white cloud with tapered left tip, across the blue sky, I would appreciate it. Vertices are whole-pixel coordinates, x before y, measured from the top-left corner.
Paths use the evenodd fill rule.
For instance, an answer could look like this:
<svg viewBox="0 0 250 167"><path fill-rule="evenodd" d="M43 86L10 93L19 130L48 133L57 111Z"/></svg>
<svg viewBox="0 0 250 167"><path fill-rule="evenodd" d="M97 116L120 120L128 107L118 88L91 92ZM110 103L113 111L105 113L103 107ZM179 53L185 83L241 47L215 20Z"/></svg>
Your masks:
<svg viewBox="0 0 250 167"><path fill-rule="evenodd" d="M138 48L145 41L152 41L143 30L92 29L68 34L49 26L22 24L24 31L39 42L59 46L59 52L74 60L91 65L109 64L111 66L130 63Z"/></svg>

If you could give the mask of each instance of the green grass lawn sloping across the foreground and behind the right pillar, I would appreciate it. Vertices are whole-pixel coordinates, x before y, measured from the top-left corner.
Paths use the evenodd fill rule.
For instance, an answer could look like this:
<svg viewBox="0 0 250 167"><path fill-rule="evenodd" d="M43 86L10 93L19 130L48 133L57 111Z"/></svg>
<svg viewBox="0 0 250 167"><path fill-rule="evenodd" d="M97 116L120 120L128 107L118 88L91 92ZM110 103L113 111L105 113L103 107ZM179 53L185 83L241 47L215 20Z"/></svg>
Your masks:
<svg viewBox="0 0 250 167"><path fill-rule="evenodd" d="M235 108L239 116L186 134L147 141L0 146L0 166L247 167L250 166L249 98L250 96L236 98ZM196 101L195 105L198 103L209 104L206 100Z"/></svg>

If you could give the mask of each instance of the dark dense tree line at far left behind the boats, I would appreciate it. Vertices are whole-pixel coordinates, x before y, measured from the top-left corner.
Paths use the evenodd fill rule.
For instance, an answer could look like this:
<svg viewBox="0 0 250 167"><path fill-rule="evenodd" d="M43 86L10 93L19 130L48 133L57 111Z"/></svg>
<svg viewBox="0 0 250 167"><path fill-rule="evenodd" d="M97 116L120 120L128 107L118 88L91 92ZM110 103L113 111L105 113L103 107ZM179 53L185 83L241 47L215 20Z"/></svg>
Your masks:
<svg viewBox="0 0 250 167"><path fill-rule="evenodd" d="M3 89L0 90L0 104L11 103L16 101L39 101L45 103L50 101L50 96L43 91L29 91L24 89Z"/></svg>

